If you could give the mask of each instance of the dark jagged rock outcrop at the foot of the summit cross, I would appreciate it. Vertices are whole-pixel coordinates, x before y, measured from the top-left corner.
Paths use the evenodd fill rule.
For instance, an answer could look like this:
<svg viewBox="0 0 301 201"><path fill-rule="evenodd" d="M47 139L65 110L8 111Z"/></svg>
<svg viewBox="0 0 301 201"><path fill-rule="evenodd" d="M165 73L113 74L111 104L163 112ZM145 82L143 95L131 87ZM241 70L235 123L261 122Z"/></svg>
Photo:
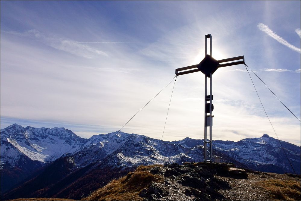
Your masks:
<svg viewBox="0 0 301 201"><path fill-rule="evenodd" d="M222 200L226 199L219 189L228 189L230 185L214 175L226 177L247 177L246 170L234 168L231 163L184 163L154 167L152 174L164 176L164 183L151 182L139 196L144 200L171 199L180 200ZM182 196L182 197L181 197Z"/></svg>

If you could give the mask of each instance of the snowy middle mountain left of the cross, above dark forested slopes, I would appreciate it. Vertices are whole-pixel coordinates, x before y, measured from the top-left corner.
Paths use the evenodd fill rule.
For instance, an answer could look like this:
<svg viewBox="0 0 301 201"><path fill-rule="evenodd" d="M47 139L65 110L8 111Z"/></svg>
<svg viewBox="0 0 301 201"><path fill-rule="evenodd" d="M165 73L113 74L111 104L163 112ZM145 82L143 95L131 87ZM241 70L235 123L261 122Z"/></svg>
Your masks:
<svg viewBox="0 0 301 201"><path fill-rule="evenodd" d="M108 141L109 139L111 140ZM104 160L107 166L128 167L177 162L186 156L184 153L187 152L189 149L180 144L163 142L143 135L113 132L92 136L88 146L66 156L72 158L77 167Z"/></svg>

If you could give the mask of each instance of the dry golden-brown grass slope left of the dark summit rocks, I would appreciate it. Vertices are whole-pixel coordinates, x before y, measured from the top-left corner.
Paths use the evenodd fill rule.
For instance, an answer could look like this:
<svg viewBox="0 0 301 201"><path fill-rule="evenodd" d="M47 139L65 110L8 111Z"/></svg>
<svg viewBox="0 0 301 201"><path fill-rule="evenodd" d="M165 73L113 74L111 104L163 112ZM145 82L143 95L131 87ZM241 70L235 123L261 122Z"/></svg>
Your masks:
<svg viewBox="0 0 301 201"><path fill-rule="evenodd" d="M138 193L150 182L163 182L160 175L154 175L149 169L161 165L139 166L134 172L117 180L112 180L106 186L94 191L83 200L143 200Z"/></svg>

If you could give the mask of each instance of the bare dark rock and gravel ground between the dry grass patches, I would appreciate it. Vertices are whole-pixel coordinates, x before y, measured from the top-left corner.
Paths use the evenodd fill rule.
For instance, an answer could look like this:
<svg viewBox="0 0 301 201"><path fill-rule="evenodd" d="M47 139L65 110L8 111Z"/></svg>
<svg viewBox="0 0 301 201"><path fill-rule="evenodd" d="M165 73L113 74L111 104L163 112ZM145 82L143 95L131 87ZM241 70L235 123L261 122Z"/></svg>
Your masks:
<svg viewBox="0 0 301 201"><path fill-rule="evenodd" d="M164 182L150 182L138 194L143 200L273 200L274 195L258 186L260 181L291 180L300 176L263 173L235 168L229 163L184 163L149 168ZM295 199L300 198L300 192Z"/></svg>

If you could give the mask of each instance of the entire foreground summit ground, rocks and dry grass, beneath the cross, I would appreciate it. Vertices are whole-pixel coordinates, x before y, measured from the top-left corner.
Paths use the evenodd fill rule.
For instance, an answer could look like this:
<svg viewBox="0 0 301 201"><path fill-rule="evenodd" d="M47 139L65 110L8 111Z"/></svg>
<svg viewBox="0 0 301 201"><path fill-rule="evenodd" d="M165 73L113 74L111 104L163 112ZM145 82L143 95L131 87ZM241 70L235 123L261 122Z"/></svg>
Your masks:
<svg viewBox="0 0 301 201"><path fill-rule="evenodd" d="M138 179L138 172L148 176ZM133 181L136 187L130 184ZM85 198L120 199L300 200L300 176L239 169L229 163L152 165L137 168Z"/></svg>

